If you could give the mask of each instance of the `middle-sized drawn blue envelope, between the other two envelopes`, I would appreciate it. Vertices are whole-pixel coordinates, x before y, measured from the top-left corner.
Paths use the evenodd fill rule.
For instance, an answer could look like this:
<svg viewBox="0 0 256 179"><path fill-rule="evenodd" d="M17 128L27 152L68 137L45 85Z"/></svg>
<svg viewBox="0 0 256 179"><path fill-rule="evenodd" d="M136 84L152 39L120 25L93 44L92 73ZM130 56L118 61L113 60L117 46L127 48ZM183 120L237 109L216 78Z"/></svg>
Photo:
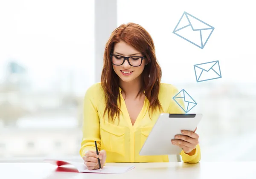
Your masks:
<svg viewBox="0 0 256 179"><path fill-rule="evenodd" d="M197 82L214 80L222 77L220 63L218 60L194 65L194 70Z"/></svg>

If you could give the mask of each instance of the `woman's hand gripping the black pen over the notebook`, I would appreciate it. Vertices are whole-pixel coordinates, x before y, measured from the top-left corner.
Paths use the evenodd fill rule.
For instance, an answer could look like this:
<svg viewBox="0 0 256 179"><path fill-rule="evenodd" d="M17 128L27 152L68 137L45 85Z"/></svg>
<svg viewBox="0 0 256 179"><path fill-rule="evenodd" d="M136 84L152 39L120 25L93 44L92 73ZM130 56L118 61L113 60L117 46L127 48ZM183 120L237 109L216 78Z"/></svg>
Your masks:
<svg viewBox="0 0 256 179"><path fill-rule="evenodd" d="M99 152L99 156L97 155L96 151L86 151L84 153L84 165L87 166L88 170L96 170L99 169L98 157L100 159L100 165L103 168L106 162L106 151L102 150Z"/></svg>

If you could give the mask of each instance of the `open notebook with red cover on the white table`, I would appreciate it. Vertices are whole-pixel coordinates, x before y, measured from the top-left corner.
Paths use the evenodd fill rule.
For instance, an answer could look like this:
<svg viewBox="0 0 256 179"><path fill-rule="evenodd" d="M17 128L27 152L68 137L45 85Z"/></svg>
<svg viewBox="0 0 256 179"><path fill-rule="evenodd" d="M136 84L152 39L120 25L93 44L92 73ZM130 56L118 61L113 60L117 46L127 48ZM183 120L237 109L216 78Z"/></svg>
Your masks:
<svg viewBox="0 0 256 179"><path fill-rule="evenodd" d="M55 160L55 159L45 159L44 162L51 163L52 165L62 166L62 165L73 165L79 173L109 173L109 174L119 174L125 173L129 170L134 169L133 165L129 166L104 166L102 171L98 170L88 170L83 162L72 162L67 160Z"/></svg>

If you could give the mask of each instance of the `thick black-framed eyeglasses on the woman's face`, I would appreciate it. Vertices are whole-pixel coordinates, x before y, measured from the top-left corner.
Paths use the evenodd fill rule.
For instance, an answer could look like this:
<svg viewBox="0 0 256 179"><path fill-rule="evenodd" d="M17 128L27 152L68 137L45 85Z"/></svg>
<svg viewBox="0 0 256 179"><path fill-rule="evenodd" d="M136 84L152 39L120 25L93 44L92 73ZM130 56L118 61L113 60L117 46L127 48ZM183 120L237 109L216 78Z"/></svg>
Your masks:
<svg viewBox="0 0 256 179"><path fill-rule="evenodd" d="M111 62L113 65L122 65L125 63L125 60L128 61L129 65L131 66L140 66L142 64L142 60L146 58L144 57L137 57L137 56L132 56L132 57L124 57L121 55L115 55L115 54L110 54L111 57Z"/></svg>

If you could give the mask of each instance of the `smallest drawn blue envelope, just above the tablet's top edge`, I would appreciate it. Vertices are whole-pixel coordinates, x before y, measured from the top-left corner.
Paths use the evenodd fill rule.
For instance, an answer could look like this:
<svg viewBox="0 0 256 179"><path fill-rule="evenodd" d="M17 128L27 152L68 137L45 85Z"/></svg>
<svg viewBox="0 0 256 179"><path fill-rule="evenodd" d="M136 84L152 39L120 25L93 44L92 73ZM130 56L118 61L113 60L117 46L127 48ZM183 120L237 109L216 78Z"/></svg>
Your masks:
<svg viewBox="0 0 256 179"><path fill-rule="evenodd" d="M192 108L194 108L197 103L195 100L183 89L178 94L175 95L172 99L175 100L175 102L180 106L180 108L185 111L185 113L188 113ZM184 100L184 106L182 106L179 102L180 99Z"/></svg>

